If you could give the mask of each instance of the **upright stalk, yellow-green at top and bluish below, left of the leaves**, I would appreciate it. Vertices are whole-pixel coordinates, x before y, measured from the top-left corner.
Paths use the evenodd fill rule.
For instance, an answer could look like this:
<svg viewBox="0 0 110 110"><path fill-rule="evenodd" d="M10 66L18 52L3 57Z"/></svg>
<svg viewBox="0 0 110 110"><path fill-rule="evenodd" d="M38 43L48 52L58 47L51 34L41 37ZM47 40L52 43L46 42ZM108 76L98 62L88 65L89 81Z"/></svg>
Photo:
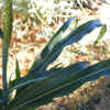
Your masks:
<svg viewBox="0 0 110 110"><path fill-rule="evenodd" d="M4 0L3 6L3 41L2 41L2 95L3 102L2 110L8 110L8 80L7 80L7 64L8 53L12 32L12 0Z"/></svg>

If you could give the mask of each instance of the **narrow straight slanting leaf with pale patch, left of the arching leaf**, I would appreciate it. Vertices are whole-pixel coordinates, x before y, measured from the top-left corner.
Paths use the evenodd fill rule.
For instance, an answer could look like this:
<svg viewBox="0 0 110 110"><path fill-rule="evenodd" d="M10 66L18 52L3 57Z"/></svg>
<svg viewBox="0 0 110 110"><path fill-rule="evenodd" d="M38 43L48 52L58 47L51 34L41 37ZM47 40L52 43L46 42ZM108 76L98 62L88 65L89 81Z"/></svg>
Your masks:
<svg viewBox="0 0 110 110"><path fill-rule="evenodd" d="M41 67L42 64L45 63L45 57L48 58L48 55L51 53L51 51L48 51L48 47L54 47L56 44L58 44L63 38L64 38L64 32L67 30L67 28L72 24L73 21L76 21L76 18L70 18L68 19L63 25L62 28L53 35L53 37L51 38L51 41L48 42L48 44L45 46L45 48L43 50L41 56L38 58L35 59L35 62L33 63L30 73L33 73L33 69L36 69L36 67ZM58 55L58 54L57 54ZM56 57L57 57L56 55ZM51 59L52 62L54 59ZM46 63L45 65L48 65L48 63ZM45 68L45 67L44 67ZM40 72L40 70L37 70Z"/></svg>

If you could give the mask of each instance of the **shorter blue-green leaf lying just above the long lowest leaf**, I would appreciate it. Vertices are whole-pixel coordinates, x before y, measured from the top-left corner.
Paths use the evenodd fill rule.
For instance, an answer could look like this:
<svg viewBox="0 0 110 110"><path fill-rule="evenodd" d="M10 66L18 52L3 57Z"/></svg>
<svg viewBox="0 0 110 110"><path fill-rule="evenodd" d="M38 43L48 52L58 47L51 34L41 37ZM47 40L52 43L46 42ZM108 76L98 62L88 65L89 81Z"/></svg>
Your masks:
<svg viewBox="0 0 110 110"><path fill-rule="evenodd" d="M56 84L59 85L62 84L63 80L66 80L67 78L69 78L70 76L73 76L74 74L70 74L73 70L76 70L76 73L78 73L79 70L82 70L85 69L86 67L88 67L89 64L88 63L77 63L77 64L74 64L72 66L68 66L67 68L63 69L57 69L55 73L52 73L51 75L47 75L48 78L46 80L44 80L43 82L37 82L35 84L33 87L30 87L28 88L25 91L21 92L21 95L16 96L16 100L19 100L20 97L22 97L22 95L24 96L28 95L26 97L22 98L22 100L19 100L19 103L23 100L25 100L25 102L28 102L28 100L31 98L31 94L35 94L36 91L38 91L38 88L37 87L42 87L42 89L44 90L47 90L47 88L53 88L53 86L55 86ZM65 72L65 73L64 73ZM61 74L62 73L62 74ZM69 73L69 74L67 74ZM56 74L58 75L58 77L55 78ZM63 77L64 75L64 77ZM61 80L62 79L62 80ZM54 84L54 80L57 80L55 84ZM46 82L47 81L47 82ZM48 82L52 82L51 85L48 85ZM59 81L59 82L58 82ZM43 86L44 84L46 82L45 86ZM46 88L47 87L47 88ZM33 88L33 89L32 89ZM36 90L37 88L37 90ZM42 91L42 89L40 91ZM31 92L29 92L30 90L32 90ZM43 91L44 91L43 90ZM28 98L28 100L26 100ZM30 101L30 100L29 100ZM31 100L32 101L32 100ZM14 103L14 102L13 102ZM21 105L22 106L22 105Z"/></svg>

